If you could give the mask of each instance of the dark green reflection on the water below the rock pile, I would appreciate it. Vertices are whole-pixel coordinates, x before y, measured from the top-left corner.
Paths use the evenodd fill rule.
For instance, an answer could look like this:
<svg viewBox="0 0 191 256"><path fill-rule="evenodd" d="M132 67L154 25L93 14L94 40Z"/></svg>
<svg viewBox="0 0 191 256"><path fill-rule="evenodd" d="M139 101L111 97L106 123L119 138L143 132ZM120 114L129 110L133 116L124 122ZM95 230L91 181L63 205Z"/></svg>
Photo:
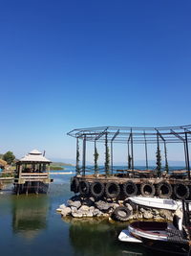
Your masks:
<svg viewBox="0 0 191 256"><path fill-rule="evenodd" d="M117 236L126 224L110 223L98 220L70 221L69 236L74 247L74 255L146 255L142 247L121 243Z"/></svg>

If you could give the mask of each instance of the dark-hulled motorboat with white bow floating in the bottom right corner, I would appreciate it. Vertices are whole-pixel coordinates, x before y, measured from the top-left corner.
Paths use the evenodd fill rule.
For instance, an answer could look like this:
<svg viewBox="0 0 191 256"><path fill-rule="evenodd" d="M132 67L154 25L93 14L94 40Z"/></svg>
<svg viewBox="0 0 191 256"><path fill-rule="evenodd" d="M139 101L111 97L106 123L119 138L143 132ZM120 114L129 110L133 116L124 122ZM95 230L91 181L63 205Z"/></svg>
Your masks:
<svg viewBox="0 0 191 256"><path fill-rule="evenodd" d="M173 223L158 221L135 221L122 230L118 240L137 243L160 252L188 255L190 247L189 202L182 201Z"/></svg>

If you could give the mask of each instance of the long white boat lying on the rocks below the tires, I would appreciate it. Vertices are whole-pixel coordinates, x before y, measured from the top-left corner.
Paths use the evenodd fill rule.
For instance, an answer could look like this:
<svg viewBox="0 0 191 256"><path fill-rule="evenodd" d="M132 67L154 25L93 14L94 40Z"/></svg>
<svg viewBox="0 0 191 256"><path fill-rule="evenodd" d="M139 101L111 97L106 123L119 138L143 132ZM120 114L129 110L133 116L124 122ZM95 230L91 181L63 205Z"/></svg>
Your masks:
<svg viewBox="0 0 191 256"><path fill-rule="evenodd" d="M149 208L159 208L176 211L181 205L180 200L166 198L130 197L130 201Z"/></svg>

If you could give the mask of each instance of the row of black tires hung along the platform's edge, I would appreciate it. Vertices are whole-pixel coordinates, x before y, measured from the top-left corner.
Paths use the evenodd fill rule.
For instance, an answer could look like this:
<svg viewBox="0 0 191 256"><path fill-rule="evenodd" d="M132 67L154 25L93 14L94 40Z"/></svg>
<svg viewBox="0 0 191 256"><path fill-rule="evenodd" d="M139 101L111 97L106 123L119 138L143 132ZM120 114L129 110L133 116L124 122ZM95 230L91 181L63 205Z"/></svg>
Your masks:
<svg viewBox="0 0 191 256"><path fill-rule="evenodd" d="M139 194L143 197L159 196L159 198L187 199L190 197L190 187L188 185L178 183L172 186L165 181L161 181L157 185L149 181L140 185L133 181L118 184L114 181L103 183L96 180L89 183L86 180L79 181L78 178L74 177L71 181L71 191L82 196L91 195L94 198L134 197Z"/></svg>

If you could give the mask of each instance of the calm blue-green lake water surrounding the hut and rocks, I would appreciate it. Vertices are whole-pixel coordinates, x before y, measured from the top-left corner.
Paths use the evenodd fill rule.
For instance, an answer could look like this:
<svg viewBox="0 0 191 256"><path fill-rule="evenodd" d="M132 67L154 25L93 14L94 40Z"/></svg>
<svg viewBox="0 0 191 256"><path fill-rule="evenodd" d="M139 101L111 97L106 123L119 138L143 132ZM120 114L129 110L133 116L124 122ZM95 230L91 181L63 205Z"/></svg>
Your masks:
<svg viewBox="0 0 191 256"><path fill-rule="evenodd" d="M67 168L66 172L73 168ZM0 192L0 253L29 255L152 255L142 247L117 241L124 223L63 220L55 209L66 202L72 175L54 175L48 195Z"/></svg>

